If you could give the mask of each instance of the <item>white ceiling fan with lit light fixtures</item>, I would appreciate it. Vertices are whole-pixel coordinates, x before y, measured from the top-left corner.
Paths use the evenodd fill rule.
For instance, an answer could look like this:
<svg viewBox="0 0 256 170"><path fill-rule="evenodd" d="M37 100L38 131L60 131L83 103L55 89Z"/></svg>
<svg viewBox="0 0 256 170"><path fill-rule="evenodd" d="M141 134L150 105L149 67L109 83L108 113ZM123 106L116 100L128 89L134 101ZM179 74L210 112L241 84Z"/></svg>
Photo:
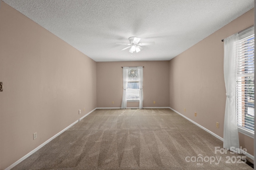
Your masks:
<svg viewBox="0 0 256 170"><path fill-rule="evenodd" d="M130 37L128 39L130 41L130 44L124 44L124 43L115 43L115 44L128 45L128 47L121 49L121 51L130 48L130 50L129 50L130 53L140 52L140 50L142 50L142 47L140 47L140 46L155 44L155 42L139 43L139 41L140 41L139 37Z"/></svg>

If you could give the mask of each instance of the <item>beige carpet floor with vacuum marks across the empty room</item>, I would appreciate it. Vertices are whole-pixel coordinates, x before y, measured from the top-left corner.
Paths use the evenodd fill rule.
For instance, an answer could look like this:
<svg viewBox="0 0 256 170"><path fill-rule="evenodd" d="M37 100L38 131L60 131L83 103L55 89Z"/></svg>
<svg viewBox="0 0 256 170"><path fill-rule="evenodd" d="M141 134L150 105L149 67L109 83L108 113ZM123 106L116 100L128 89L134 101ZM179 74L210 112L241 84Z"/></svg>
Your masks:
<svg viewBox="0 0 256 170"><path fill-rule="evenodd" d="M13 170L252 170L222 146L171 109L97 109Z"/></svg>

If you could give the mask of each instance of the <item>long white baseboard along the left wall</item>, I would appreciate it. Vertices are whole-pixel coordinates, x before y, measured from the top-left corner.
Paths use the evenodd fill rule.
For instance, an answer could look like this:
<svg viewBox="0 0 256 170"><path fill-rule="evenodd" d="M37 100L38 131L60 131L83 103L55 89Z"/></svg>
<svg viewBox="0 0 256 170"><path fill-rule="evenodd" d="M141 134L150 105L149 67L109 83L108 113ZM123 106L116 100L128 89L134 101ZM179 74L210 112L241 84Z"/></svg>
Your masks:
<svg viewBox="0 0 256 170"><path fill-rule="evenodd" d="M10 170L12 169L14 166L18 165L20 162L22 162L23 160L25 160L26 158L28 158L28 156L32 155L34 152L36 152L37 150L39 150L40 148L42 148L44 145L46 145L47 143L49 143L50 141L52 141L52 139L58 137L58 135L62 134L64 131L66 131L68 128L72 127L74 124L76 124L78 121L82 120L84 117L86 117L87 115L89 115L90 113L92 113L95 109L93 109L92 111L90 111L89 113L87 113L86 115L84 115L83 117L81 117L80 119L78 119L77 121L75 121L74 123L72 123L71 125L69 125L68 127L66 127L65 129L63 129L62 131L60 131L59 133L57 133L56 135L54 135L53 137L51 137L50 139L48 139L47 141L45 141L44 143L42 143L41 145L39 145L38 147L36 147L35 149L33 149L32 151L30 151L28 154L26 154L25 156L23 156L22 158L20 158L19 160L17 160L16 162L14 162L13 164L11 164L10 166L8 166L6 169L4 170Z"/></svg>

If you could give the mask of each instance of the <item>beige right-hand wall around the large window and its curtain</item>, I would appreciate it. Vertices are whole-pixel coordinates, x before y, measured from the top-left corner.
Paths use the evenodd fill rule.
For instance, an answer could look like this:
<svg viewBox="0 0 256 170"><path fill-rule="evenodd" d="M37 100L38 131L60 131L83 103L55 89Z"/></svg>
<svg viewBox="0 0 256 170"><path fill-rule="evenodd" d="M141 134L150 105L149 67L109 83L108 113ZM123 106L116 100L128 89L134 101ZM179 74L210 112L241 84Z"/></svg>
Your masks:
<svg viewBox="0 0 256 170"><path fill-rule="evenodd" d="M220 137L223 137L226 103L221 40L252 25L254 10L170 60L170 107ZM220 128L216 128L216 122ZM239 137L240 146L254 155L253 139L243 134Z"/></svg>

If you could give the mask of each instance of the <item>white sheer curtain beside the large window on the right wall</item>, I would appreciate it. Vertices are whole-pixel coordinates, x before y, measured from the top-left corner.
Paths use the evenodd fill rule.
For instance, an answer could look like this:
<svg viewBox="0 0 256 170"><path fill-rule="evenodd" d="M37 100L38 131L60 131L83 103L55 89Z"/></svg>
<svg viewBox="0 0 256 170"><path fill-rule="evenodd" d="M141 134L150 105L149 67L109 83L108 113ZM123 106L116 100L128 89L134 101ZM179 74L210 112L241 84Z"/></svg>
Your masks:
<svg viewBox="0 0 256 170"><path fill-rule="evenodd" d="M224 117L223 147L240 152L236 119L236 74L238 33L224 39L224 80L226 86L226 108Z"/></svg>

